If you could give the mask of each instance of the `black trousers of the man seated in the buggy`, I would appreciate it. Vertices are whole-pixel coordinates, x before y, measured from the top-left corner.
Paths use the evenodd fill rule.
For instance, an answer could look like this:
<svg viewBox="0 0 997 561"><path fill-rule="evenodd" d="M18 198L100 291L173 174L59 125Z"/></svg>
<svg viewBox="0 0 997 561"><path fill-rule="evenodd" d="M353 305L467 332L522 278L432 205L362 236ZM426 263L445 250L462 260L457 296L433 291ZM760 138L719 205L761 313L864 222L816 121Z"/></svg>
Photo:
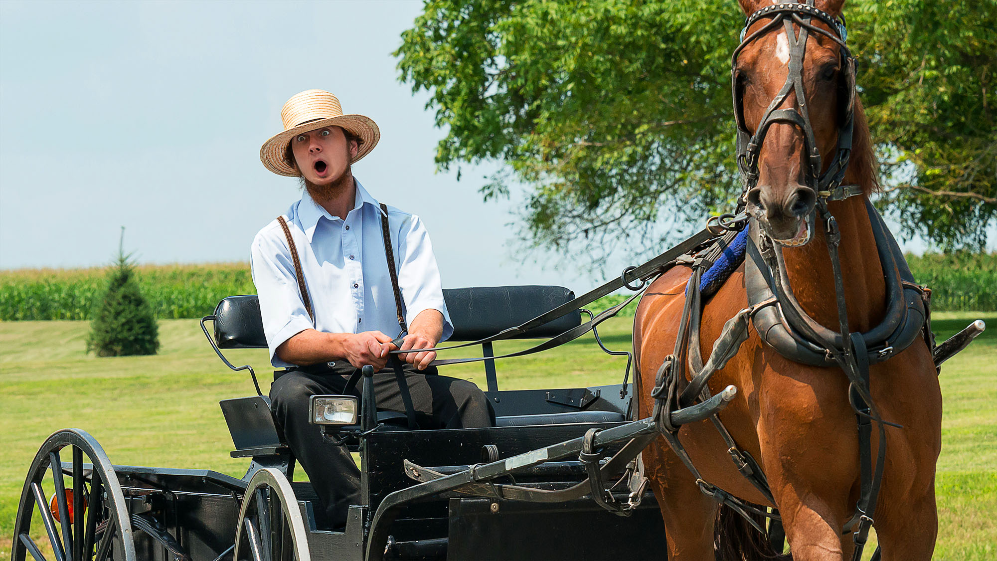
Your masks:
<svg viewBox="0 0 997 561"><path fill-rule="evenodd" d="M351 504L361 504L360 470L345 445L323 439L322 425L308 422L309 399L315 394L343 394L354 370L341 361L327 373L287 372L270 386L270 406L277 424L308 474L333 527L346 523ZM495 426L492 403L477 385L437 375L436 371L435 366L420 372L406 364L405 379L420 428ZM351 393L359 397L362 379L357 386ZM374 374L374 395L379 409L405 412L394 370Z"/></svg>

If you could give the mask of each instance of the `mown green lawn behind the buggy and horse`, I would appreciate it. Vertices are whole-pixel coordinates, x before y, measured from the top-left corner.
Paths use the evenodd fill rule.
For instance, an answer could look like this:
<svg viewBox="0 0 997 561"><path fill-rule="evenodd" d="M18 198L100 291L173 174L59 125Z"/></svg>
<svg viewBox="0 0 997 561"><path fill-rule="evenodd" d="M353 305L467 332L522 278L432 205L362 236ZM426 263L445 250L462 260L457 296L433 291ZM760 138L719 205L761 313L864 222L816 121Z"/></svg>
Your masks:
<svg viewBox="0 0 997 561"><path fill-rule="evenodd" d="M942 340L979 316L991 329L942 370L936 559L997 554L997 314L936 313L934 328ZM610 348L629 347L630 321L606 323L603 341ZM0 322L0 558L9 555L9 534L31 458L59 428L89 431L119 464L209 468L235 476L248 465L228 457L232 443L217 402L252 394L252 384L247 374L221 364L195 320L162 320L160 354L142 357L86 354L88 327L83 321ZM496 350L522 346L510 342ZM228 356L259 367L261 379L268 379L265 351ZM586 337L504 361L498 377L504 389L618 383L624 363ZM484 385L484 373L475 364L447 373Z"/></svg>

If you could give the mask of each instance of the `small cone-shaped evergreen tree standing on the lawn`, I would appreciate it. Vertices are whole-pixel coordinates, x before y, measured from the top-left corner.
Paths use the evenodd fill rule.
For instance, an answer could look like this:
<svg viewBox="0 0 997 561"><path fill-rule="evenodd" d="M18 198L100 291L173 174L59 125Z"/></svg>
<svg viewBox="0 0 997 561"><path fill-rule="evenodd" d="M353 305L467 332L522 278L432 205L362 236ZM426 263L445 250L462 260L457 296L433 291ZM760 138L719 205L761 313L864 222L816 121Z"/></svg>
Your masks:
<svg viewBox="0 0 997 561"><path fill-rule="evenodd" d="M118 258L108 274L108 290L100 300L91 322L87 351L98 356L156 354L160 348L159 326L153 308L142 296L135 279L132 254L125 255L125 227L122 227Z"/></svg>

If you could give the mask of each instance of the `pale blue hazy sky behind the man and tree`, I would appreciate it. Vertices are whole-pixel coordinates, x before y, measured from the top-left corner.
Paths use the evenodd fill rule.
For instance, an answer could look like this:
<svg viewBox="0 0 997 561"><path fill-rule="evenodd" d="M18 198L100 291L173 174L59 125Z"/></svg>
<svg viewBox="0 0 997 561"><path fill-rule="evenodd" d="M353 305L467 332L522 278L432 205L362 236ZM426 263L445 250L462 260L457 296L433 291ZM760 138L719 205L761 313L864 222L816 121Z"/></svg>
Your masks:
<svg viewBox="0 0 997 561"><path fill-rule="evenodd" d="M498 203L478 193L498 165L464 166L461 181L437 171L445 132L391 54L421 9L0 1L0 269L106 265L122 226L140 263L247 261L255 233L300 197L259 147L290 96L319 88L377 122L381 141L354 175L422 217L445 285L578 291L618 275L624 261L586 275L518 249L521 189Z"/></svg>

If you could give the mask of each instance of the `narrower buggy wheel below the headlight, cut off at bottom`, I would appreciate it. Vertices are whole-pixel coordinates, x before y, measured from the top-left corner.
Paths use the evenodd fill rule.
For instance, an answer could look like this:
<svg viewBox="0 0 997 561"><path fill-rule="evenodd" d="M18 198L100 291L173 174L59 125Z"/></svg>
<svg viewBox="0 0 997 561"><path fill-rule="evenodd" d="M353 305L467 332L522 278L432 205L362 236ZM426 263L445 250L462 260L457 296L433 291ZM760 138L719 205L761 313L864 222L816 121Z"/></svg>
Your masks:
<svg viewBox="0 0 997 561"><path fill-rule="evenodd" d="M280 471L253 474L235 528L235 561L311 561L294 490Z"/></svg>

